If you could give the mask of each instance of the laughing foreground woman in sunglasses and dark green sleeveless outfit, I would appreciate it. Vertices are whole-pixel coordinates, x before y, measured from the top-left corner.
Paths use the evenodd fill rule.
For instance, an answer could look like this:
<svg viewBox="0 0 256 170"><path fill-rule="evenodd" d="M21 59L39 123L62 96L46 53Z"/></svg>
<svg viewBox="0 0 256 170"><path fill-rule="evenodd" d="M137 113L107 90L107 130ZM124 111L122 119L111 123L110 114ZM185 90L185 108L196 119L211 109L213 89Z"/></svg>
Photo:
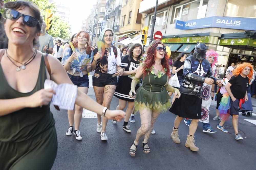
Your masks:
<svg viewBox="0 0 256 170"><path fill-rule="evenodd" d="M9 42L8 49L0 50L0 169L51 169L58 148L50 112L55 91L44 89L44 82L72 82L58 59L33 49L42 25L39 9L29 1L7 2L5 7ZM123 111L104 108L80 90L75 103L108 119L125 116Z"/></svg>

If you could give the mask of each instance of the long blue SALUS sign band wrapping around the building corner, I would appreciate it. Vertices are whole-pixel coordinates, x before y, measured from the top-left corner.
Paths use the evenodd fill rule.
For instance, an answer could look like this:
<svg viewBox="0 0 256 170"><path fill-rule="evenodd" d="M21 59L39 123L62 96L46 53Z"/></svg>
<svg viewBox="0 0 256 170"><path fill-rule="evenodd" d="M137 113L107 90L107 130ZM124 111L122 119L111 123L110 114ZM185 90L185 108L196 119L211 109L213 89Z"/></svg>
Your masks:
<svg viewBox="0 0 256 170"><path fill-rule="evenodd" d="M256 30L256 18L238 17L208 17L190 21L176 20L175 27L180 30L191 30L198 28L229 28L238 30Z"/></svg>

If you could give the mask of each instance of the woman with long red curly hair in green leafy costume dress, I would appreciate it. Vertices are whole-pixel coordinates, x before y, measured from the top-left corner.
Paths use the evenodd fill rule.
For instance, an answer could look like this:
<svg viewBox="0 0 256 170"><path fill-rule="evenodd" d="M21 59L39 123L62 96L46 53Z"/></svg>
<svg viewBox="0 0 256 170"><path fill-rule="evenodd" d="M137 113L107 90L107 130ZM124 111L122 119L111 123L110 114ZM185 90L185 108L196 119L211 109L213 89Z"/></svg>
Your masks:
<svg viewBox="0 0 256 170"><path fill-rule="evenodd" d="M135 92L135 87L140 82L141 76L143 76L142 86ZM166 49L161 41L155 40L147 49L147 57L138 68L129 93L131 98L135 98L135 111L139 111L141 117L141 127L130 148L131 156L135 156L142 136L144 136L143 152L150 153L147 142L155 121L161 111L166 111L171 106L167 91L175 92L177 98L180 96L179 90L168 84L169 78L170 70Z"/></svg>

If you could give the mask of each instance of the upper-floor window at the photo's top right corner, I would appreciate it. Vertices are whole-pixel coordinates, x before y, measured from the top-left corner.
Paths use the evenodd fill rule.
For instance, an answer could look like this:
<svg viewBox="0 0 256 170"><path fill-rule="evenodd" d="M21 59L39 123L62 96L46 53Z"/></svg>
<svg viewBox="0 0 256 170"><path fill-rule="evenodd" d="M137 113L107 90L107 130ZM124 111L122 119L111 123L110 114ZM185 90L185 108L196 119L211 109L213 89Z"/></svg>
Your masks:
<svg viewBox="0 0 256 170"><path fill-rule="evenodd" d="M228 0L224 16L256 18L256 1Z"/></svg>

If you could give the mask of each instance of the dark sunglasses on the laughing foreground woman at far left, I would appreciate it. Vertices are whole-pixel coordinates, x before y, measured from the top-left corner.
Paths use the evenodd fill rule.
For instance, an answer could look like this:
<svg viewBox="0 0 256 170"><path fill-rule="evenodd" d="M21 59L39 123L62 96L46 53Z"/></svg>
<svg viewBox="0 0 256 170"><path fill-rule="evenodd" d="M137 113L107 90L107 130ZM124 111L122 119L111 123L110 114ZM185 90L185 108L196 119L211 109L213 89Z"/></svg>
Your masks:
<svg viewBox="0 0 256 170"><path fill-rule="evenodd" d="M17 20L19 19L19 17L23 17L24 24L26 24L29 27L36 27L36 25L39 23L38 19L31 17L29 15L21 14L20 12L10 8L5 8L3 17L5 19L11 20Z"/></svg>

